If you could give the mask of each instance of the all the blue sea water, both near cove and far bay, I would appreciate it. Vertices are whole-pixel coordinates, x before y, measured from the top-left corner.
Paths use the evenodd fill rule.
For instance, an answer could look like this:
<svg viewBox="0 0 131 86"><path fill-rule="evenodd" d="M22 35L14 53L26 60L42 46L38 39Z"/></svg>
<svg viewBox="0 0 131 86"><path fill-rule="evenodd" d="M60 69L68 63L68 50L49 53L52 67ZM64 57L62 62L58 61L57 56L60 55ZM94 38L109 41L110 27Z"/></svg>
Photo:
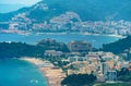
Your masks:
<svg viewBox="0 0 131 86"><path fill-rule="evenodd" d="M114 42L122 37L82 34L0 34L0 42L21 41L35 45L45 38L52 38L64 44L72 40L85 40L93 44L95 48L102 48L103 44ZM48 86L48 84L45 76L34 64L16 59L9 59L0 60L0 86Z"/></svg>

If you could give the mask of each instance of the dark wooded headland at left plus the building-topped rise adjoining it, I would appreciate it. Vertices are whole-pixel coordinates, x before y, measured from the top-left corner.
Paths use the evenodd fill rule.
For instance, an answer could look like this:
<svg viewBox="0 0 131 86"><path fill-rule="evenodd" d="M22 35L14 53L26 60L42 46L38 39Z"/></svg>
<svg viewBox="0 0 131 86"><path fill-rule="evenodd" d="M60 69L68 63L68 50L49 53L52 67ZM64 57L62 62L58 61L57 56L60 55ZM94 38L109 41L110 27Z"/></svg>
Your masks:
<svg viewBox="0 0 131 86"><path fill-rule="evenodd" d="M0 42L0 58L19 58L19 57L44 57L45 50L68 51L67 45L55 42L38 44L35 46L23 42Z"/></svg>

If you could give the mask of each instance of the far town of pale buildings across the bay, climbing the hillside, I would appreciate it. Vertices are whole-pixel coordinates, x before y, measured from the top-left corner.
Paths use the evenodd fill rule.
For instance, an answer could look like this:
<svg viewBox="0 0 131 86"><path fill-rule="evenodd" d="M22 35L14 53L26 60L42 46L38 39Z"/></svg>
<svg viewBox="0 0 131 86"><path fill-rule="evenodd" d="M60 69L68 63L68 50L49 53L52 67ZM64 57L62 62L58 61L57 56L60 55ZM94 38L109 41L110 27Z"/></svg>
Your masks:
<svg viewBox="0 0 131 86"><path fill-rule="evenodd" d="M119 20L111 21L83 21L73 11L66 11L62 14L50 17L49 20L36 20L29 16L33 11L41 10L47 12L49 7L46 3L37 3L27 12L22 12L9 21L0 22L0 33L82 33L100 35L131 35L131 22ZM53 9L56 10L56 9Z"/></svg>

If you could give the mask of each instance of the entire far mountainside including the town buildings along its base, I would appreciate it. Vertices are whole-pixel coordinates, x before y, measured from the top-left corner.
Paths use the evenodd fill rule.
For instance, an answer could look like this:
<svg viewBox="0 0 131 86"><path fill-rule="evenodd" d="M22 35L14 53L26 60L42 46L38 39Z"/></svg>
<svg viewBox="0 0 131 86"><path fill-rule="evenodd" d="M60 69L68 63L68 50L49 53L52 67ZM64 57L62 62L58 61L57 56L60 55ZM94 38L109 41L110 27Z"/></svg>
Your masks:
<svg viewBox="0 0 131 86"><path fill-rule="evenodd" d="M124 3L123 3L124 1ZM131 35L130 0L43 0L0 14L0 33Z"/></svg>

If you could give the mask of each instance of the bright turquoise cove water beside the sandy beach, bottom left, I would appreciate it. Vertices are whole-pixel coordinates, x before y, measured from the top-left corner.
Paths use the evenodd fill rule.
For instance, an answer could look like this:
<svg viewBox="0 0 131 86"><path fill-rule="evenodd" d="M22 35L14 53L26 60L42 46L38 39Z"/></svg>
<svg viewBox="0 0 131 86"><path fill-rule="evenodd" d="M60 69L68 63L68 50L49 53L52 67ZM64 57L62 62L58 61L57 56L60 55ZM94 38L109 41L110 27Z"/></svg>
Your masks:
<svg viewBox="0 0 131 86"><path fill-rule="evenodd" d="M0 61L0 86L47 86L38 69L25 61Z"/></svg>

